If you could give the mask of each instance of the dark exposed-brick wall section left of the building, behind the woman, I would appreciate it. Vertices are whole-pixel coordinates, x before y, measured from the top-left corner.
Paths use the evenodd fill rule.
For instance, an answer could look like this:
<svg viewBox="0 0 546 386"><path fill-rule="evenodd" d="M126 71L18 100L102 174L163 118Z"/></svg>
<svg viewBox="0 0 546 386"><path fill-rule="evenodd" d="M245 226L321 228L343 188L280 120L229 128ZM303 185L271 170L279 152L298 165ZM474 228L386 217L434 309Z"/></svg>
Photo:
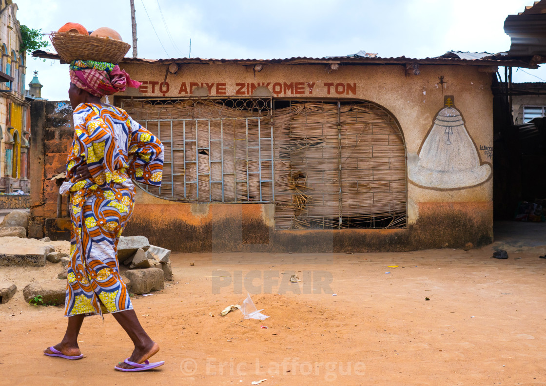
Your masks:
<svg viewBox="0 0 546 386"><path fill-rule="evenodd" d="M74 135L73 126L69 102L32 102L29 237L48 236L51 240L69 240L67 198L62 198L62 213L57 217L59 188L51 178L65 170Z"/></svg>

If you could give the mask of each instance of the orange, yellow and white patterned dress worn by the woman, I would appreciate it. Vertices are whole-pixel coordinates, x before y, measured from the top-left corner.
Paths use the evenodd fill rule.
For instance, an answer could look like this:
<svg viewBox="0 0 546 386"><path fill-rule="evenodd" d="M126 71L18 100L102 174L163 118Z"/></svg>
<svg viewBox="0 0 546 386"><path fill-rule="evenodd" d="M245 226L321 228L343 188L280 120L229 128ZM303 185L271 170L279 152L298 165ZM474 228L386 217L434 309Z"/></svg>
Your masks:
<svg viewBox="0 0 546 386"><path fill-rule="evenodd" d="M72 231L65 316L131 310L117 261L117 242L134 206L131 179L161 186L163 145L126 111L85 103L74 110L67 159ZM92 178L74 182L87 164Z"/></svg>

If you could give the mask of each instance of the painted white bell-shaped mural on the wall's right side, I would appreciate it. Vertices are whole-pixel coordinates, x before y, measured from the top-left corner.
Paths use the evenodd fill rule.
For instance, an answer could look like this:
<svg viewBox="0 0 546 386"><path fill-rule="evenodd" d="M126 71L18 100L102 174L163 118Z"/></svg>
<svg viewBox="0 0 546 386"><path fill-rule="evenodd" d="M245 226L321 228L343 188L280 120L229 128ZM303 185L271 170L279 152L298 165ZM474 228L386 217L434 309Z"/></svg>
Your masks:
<svg viewBox="0 0 546 386"><path fill-rule="evenodd" d="M408 159L408 175L415 185L430 189L462 189L489 179L491 165L480 162L453 96L444 97L418 157Z"/></svg>

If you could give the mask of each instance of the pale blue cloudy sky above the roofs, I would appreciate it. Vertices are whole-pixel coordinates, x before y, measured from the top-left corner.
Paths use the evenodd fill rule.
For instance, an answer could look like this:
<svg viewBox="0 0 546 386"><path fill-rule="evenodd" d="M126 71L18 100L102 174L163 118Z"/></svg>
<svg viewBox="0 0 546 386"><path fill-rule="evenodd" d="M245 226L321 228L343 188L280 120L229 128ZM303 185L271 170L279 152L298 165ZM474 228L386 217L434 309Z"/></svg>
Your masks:
<svg viewBox="0 0 546 386"><path fill-rule="evenodd" d="M132 43L129 0L15 0L17 19L43 32L66 22L116 29ZM449 50L501 52L510 47L507 15L532 0L135 0L141 58L289 58L355 54L434 57ZM96 4L96 5L94 5ZM108 4L108 5L105 5ZM54 49L49 47L50 51ZM129 51L128 55L132 55ZM519 69L515 82L546 80L546 65ZM68 65L27 57L42 97L68 98ZM524 73L524 71L526 73ZM537 78L538 77L538 78ZM541 78L541 79L539 79ZM28 88L28 85L27 85Z"/></svg>

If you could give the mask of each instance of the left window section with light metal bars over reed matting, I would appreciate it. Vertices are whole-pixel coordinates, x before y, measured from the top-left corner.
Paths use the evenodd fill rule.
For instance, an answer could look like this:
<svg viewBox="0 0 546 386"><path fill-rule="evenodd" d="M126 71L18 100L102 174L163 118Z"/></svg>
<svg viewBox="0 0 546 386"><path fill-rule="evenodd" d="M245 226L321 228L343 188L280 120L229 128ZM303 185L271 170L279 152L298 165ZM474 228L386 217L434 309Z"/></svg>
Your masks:
<svg viewBox="0 0 546 386"><path fill-rule="evenodd" d="M168 200L274 201L271 99L121 99L118 105L162 141Z"/></svg>

